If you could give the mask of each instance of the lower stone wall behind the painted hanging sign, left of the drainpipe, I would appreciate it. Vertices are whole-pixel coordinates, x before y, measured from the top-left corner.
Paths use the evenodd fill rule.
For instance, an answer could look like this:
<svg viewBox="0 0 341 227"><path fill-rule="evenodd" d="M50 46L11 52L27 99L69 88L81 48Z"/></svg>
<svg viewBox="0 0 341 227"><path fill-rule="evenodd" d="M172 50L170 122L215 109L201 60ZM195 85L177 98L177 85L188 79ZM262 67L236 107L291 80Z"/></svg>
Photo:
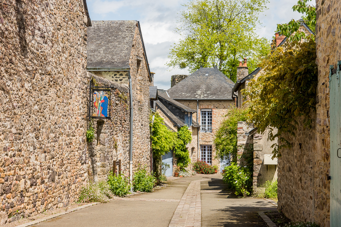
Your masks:
<svg viewBox="0 0 341 227"><path fill-rule="evenodd" d="M121 160L121 173L129 175L129 89L88 72L99 86L112 87L111 119L93 119L95 139L88 143L89 178L106 181L113 161ZM116 169L118 171L118 167Z"/></svg>

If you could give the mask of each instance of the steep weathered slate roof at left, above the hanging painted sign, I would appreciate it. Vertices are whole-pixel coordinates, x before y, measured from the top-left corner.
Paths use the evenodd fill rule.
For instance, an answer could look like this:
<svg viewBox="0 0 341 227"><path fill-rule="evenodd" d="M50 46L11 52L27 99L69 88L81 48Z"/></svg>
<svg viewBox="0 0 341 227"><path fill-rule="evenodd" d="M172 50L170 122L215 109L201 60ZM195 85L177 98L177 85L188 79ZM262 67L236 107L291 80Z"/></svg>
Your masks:
<svg viewBox="0 0 341 227"><path fill-rule="evenodd" d="M87 67L129 67L136 20L91 21Z"/></svg>

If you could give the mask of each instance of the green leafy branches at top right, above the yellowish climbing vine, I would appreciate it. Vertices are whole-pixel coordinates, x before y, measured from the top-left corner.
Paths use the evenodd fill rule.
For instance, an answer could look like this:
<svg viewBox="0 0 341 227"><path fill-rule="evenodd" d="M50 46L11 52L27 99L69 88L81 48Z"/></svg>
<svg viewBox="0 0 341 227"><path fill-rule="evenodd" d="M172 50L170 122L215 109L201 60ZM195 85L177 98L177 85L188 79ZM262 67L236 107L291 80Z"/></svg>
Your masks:
<svg viewBox="0 0 341 227"><path fill-rule="evenodd" d="M286 37L290 37L289 40L301 40L306 37L304 32L298 32L298 29L302 22L305 22L308 27L315 32L316 25L316 9L314 6L307 4L311 0L299 0L296 5L293 6L293 10L304 14L301 20L291 20L287 24L278 24L277 31ZM294 34L293 34L294 33Z"/></svg>

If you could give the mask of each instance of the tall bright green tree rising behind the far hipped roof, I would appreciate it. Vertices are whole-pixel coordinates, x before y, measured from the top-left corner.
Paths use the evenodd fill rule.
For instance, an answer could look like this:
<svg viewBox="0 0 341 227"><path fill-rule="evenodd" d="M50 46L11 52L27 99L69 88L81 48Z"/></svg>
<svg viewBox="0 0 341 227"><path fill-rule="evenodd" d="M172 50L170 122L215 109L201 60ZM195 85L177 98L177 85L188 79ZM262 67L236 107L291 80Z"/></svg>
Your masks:
<svg viewBox="0 0 341 227"><path fill-rule="evenodd" d="M181 12L176 30L183 38L170 50L168 66L190 72L218 66L236 81L239 60L249 59L249 70L270 50L266 38L258 38L254 28L267 0L191 0Z"/></svg>

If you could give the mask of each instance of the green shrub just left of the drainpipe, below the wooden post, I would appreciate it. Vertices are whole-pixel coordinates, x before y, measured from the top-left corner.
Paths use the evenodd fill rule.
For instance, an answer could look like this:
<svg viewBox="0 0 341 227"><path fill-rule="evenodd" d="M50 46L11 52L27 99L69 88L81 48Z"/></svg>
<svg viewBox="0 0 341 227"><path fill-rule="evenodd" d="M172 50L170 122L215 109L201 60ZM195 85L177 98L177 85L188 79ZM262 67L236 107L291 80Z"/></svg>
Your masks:
<svg viewBox="0 0 341 227"><path fill-rule="evenodd" d="M110 190L119 197L129 194L130 184L128 177L123 175L113 176L113 172L110 172L108 176L108 185Z"/></svg>

